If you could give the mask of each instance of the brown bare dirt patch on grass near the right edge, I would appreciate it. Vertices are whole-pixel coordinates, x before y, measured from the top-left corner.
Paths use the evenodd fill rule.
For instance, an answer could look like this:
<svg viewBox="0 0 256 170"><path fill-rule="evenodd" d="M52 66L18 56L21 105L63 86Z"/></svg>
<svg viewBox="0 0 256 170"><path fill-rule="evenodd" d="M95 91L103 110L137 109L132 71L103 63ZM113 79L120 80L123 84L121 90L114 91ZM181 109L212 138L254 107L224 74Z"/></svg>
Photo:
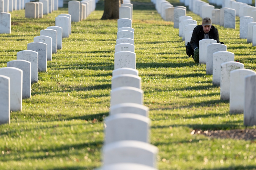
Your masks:
<svg viewBox="0 0 256 170"><path fill-rule="evenodd" d="M231 139L243 139L253 140L256 142L256 129L232 129L232 130L205 130L195 129L191 132L191 135L202 134L212 138L231 138ZM254 141L255 140L255 141Z"/></svg>

